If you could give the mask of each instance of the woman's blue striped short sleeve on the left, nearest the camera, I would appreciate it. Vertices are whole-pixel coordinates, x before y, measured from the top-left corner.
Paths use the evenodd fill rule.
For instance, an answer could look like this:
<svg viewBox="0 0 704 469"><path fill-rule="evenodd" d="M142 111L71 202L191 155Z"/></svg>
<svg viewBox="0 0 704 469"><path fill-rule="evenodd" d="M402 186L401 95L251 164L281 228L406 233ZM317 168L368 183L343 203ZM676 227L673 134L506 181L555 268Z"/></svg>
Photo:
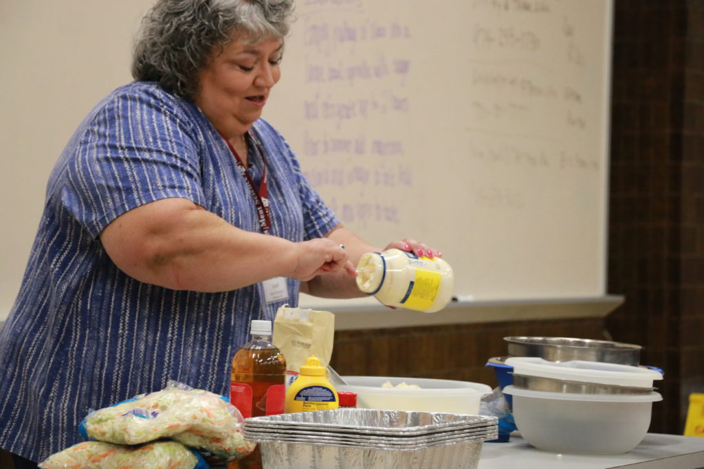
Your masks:
<svg viewBox="0 0 704 469"><path fill-rule="evenodd" d="M156 86L115 91L66 148L61 203L93 236L154 200L202 205L196 131L178 101Z"/></svg>

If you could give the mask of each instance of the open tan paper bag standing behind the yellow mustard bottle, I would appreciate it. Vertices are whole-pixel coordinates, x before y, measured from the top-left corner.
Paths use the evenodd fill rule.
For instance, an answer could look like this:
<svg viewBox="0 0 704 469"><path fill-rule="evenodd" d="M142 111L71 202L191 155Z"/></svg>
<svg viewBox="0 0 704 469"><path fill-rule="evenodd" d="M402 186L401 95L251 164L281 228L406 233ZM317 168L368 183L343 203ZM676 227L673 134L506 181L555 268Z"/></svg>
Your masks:
<svg viewBox="0 0 704 469"><path fill-rule="evenodd" d="M272 342L286 359L288 371L298 373L309 356L315 355L322 366L332 357L335 333L335 315L329 311L289 308L276 311Z"/></svg>

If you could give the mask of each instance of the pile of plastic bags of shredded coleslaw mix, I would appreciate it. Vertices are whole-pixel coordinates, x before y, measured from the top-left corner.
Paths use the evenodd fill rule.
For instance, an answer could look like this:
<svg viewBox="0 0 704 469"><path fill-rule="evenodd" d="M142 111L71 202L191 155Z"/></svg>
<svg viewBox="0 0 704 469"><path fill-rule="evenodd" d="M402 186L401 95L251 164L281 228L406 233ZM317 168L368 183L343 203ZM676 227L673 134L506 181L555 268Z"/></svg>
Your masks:
<svg viewBox="0 0 704 469"><path fill-rule="evenodd" d="M200 469L208 468L206 461L243 458L256 446L244 439L241 413L227 398L173 381L161 391L91 411L79 430L94 441L53 454L39 467Z"/></svg>

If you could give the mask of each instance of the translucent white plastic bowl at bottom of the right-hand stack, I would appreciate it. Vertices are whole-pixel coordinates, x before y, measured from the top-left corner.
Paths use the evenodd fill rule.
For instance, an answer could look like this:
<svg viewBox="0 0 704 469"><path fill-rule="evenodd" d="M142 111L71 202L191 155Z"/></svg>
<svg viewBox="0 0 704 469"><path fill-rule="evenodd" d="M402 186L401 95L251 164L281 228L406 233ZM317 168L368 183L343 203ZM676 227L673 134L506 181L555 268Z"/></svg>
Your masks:
<svg viewBox="0 0 704 469"><path fill-rule="evenodd" d="M566 394L507 386L521 436L544 451L622 454L634 449L650 427L657 392L642 395Z"/></svg>

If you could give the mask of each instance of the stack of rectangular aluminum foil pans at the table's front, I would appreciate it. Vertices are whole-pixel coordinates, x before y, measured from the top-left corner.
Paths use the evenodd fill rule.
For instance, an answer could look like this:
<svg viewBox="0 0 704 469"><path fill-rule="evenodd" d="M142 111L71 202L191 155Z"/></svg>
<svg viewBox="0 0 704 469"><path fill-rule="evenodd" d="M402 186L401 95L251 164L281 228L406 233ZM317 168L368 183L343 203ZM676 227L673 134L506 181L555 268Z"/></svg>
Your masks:
<svg viewBox="0 0 704 469"><path fill-rule="evenodd" d="M476 468L498 419L457 413L334 409L253 417L265 468Z"/></svg>

